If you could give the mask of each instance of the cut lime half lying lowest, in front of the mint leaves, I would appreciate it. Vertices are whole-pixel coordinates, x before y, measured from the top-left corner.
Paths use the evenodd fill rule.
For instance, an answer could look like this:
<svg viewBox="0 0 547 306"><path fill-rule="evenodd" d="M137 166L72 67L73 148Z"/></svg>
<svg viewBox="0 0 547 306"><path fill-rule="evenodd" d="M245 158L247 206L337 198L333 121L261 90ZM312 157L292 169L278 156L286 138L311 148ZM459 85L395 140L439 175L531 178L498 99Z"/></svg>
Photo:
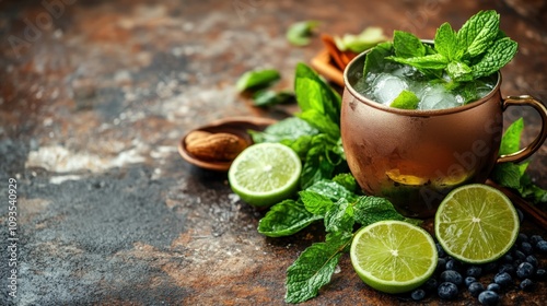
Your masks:
<svg viewBox="0 0 547 306"><path fill-rule="evenodd" d="M380 221L357 232L351 263L371 287L403 293L423 284L435 271L435 243L423 228L401 221Z"/></svg>

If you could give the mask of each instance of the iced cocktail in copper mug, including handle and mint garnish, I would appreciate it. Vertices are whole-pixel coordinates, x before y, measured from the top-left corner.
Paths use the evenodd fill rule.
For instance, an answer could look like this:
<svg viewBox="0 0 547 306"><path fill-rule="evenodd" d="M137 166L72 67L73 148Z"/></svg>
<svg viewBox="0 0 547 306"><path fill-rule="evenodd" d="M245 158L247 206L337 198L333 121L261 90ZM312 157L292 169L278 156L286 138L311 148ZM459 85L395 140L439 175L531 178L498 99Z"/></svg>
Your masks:
<svg viewBox="0 0 547 306"><path fill-rule="evenodd" d="M485 183L496 163L523 161L547 138L545 106L529 96L502 98L499 67L481 62L501 44L512 52L498 62L505 64L516 43L498 35L493 42L502 40L482 54L473 43L446 51L443 35L459 39L451 33L438 31L435 42L424 42L396 32L393 44L359 55L345 70L340 125L348 165L366 193L389 199L407 216L433 215L450 190ZM412 55L416 48L422 49ZM512 105L534 107L543 128L524 150L498 156L502 113Z"/></svg>

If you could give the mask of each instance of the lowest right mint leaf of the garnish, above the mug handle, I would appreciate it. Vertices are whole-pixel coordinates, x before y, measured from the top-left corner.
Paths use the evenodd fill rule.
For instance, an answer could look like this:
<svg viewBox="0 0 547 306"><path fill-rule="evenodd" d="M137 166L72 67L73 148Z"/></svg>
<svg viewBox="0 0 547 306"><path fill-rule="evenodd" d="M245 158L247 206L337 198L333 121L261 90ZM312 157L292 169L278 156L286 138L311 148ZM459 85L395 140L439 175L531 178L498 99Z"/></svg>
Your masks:
<svg viewBox="0 0 547 306"><path fill-rule="evenodd" d="M517 48L519 44L509 37L496 40L480 61L473 66L473 75L478 79L500 70L513 59Z"/></svg>

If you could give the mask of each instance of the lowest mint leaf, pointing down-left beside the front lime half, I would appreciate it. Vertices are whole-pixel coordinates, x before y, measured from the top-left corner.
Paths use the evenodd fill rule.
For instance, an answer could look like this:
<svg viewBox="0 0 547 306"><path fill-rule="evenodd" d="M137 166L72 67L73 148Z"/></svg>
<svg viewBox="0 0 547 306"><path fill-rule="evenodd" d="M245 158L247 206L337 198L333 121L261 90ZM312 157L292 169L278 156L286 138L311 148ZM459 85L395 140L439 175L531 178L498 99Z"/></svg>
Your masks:
<svg viewBox="0 0 547 306"><path fill-rule="evenodd" d="M330 282L342 251L351 243L351 235L327 235L325 243L313 244L287 269L287 303L302 303L313 298L319 289Z"/></svg>

